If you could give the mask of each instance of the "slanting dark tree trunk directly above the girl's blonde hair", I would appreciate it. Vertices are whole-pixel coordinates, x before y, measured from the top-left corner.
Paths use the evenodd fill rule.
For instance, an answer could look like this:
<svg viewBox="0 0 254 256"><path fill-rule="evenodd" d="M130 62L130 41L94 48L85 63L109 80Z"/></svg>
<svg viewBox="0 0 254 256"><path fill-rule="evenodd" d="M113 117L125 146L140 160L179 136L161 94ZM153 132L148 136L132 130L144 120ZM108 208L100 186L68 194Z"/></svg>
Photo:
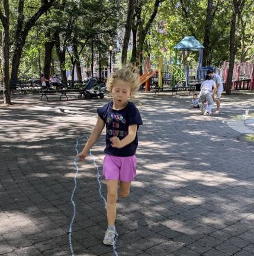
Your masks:
<svg viewBox="0 0 254 256"><path fill-rule="evenodd" d="M135 0L128 0L128 11L127 11L127 19L126 19L126 25L125 25L124 41L123 41L123 50L122 50L122 57L121 57L122 65L124 63L126 63L126 59L127 59L128 42L130 40L134 3L135 3Z"/></svg>

